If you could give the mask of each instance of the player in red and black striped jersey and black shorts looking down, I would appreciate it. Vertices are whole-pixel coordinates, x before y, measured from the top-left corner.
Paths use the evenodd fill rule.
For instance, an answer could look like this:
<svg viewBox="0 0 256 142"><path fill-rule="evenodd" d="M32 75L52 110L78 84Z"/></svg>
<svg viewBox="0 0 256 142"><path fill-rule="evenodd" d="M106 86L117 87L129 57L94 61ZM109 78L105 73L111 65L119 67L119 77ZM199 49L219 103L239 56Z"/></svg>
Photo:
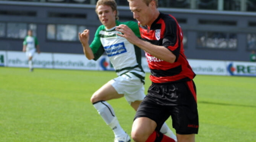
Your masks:
<svg viewBox="0 0 256 142"><path fill-rule="evenodd" d="M173 16L158 11L157 0L128 2L141 39L126 25L116 30L146 52L152 81L136 112L131 136L136 142L174 142L159 132L171 116L178 142L195 142L199 128L195 74L184 55L180 25Z"/></svg>

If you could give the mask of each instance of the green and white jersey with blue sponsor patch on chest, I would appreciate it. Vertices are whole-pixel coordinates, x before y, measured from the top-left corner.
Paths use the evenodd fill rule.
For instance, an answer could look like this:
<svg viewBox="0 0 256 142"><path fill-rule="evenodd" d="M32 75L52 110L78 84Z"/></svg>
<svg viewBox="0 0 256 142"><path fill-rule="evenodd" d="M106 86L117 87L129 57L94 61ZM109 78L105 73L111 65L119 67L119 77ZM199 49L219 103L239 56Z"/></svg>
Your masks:
<svg viewBox="0 0 256 142"><path fill-rule="evenodd" d="M125 24L136 36L140 37L138 24L134 21L119 22L116 21L117 26ZM141 49L134 46L125 38L117 35L120 33L115 30L115 27L106 29L104 25L101 25L94 36L90 47L94 54L94 60L97 60L104 52L109 57L117 76L125 73L133 73L139 77L143 82L145 73L141 67Z"/></svg>

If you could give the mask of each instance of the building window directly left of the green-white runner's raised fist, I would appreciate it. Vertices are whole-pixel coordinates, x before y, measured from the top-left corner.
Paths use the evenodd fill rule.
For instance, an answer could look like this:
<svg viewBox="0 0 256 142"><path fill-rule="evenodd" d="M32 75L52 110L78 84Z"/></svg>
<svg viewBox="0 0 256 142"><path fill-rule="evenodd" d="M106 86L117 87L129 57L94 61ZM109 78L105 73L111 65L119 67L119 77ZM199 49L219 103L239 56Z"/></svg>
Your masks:
<svg viewBox="0 0 256 142"><path fill-rule="evenodd" d="M49 24L47 25L47 39L57 41L79 41L78 32L86 29L84 25Z"/></svg>

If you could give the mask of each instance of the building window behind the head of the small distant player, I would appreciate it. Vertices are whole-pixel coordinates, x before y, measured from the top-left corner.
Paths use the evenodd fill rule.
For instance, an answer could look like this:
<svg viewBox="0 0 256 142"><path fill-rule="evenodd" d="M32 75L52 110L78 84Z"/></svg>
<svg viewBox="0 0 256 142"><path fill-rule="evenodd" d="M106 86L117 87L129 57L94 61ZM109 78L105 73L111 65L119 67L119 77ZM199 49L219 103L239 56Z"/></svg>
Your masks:
<svg viewBox="0 0 256 142"><path fill-rule="evenodd" d="M27 35L28 30L33 31L33 35L36 35L36 24L27 23L7 23L7 38L19 38L23 39Z"/></svg>

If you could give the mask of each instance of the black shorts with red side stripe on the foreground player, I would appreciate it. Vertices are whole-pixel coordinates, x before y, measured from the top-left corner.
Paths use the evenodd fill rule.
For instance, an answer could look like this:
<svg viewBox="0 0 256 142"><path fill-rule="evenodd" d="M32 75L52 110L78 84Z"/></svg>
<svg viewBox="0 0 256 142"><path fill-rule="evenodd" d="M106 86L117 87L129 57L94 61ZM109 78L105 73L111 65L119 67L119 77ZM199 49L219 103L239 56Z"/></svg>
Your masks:
<svg viewBox="0 0 256 142"><path fill-rule="evenodd" d="M177 134L198 134L196 87L192 80L173 84L152 84L136 112L135 118L156 121L157 131L172 117Z"/></svg>

